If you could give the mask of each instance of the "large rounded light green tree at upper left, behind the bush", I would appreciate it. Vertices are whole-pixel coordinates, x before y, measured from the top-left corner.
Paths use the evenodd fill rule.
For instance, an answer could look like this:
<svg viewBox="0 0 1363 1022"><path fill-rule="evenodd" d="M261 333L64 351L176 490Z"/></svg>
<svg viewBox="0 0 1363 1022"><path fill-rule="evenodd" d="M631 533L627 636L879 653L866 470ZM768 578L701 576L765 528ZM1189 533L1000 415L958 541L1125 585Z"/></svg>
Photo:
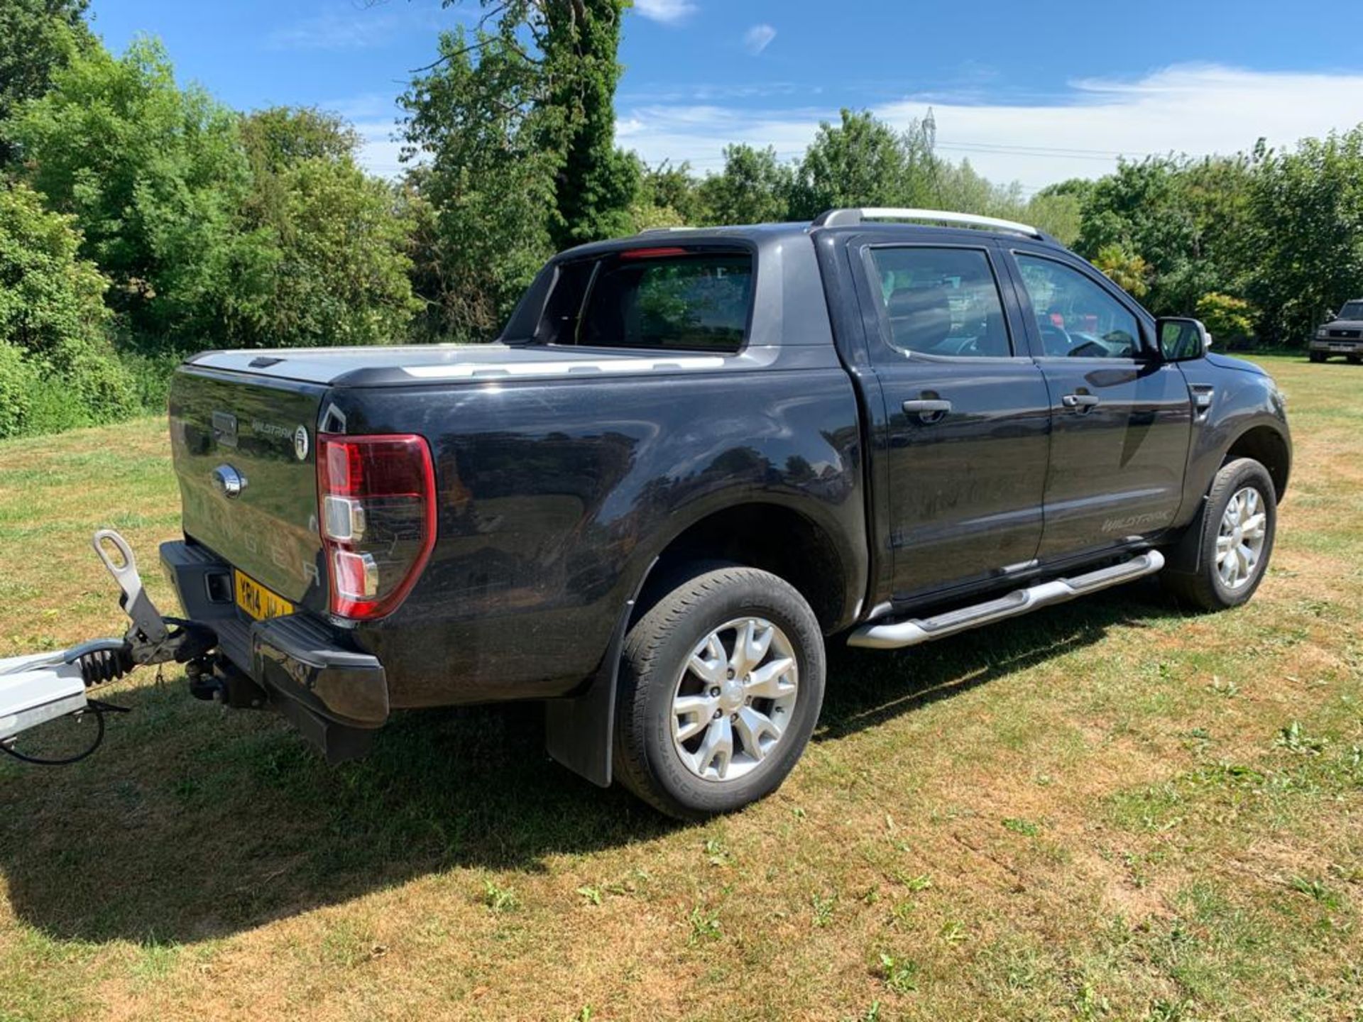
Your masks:
<svg viewBox="0 0 1363 1022"><path fill-rule="evenodd" d="M75 218L135 337L232 342L259 315L274 253L239 229L251 187L239 117L179 89L159 44L78 55L12 125L29 181Z"/></svg>

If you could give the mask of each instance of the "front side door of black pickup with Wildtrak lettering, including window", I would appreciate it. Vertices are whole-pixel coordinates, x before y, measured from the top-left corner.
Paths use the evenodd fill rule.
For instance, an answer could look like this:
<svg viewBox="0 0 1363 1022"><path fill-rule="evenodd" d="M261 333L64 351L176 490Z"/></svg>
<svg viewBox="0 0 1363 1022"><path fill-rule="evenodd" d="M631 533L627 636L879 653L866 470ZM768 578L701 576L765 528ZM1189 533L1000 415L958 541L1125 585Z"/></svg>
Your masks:
<svg viewBox="0 0 1363 1022"><path fill-rule="evenodd" d="M1014 248L1011 270L1051 401L1041 560L1172 523L1193 425L1187 383L1097 271Z"/></svg>

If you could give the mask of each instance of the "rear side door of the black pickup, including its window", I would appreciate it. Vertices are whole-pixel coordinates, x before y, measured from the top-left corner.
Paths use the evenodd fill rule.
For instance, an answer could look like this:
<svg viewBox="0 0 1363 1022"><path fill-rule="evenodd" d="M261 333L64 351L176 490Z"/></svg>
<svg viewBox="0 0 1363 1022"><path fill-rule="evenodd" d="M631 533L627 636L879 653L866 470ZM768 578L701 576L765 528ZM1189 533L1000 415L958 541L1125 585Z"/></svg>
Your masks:
<svg viewBox="0 0 1363 1022"><path fill-rule="evenodd" d="M1010 330L998 249L866 245L857 255L885 403L878 478L895 600L1030 561L1041 540L1050 401Z"/></svg>

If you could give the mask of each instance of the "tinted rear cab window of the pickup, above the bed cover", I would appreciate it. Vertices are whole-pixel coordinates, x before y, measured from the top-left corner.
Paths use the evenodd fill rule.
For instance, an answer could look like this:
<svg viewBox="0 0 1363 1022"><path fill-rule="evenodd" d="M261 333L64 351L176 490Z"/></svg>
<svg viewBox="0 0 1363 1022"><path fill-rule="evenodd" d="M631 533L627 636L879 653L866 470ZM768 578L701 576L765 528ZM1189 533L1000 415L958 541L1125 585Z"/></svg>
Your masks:
<svg viewBox="0 0 1363 1022"><path fill-rule="evenodd" d="M638 248L564 263L536 339L653 352L743 347L752 312L750 251Z"/></svg>

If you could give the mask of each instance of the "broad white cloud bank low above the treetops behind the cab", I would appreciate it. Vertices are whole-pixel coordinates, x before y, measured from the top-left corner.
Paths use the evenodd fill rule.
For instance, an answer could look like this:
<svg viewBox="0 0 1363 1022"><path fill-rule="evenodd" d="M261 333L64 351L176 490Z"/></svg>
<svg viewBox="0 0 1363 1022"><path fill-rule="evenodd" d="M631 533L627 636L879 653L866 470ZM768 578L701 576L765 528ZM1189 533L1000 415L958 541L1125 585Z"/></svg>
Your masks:
<svg viewBox="0 0 1363 1022"><path fill-rule="evenodd" d="M1278 74L1178 65L1135 80L1085 79L1026 102L912 94L872 112L906 125L932 108L942 154L968 158L995 181L1029 191L1066 177L1109 172L1118 154L1236 153L1259 136L1284 146L1351 128L1363 119L1363 74ZM654 102L620 110L620 140L650 164L684 159L721 166L726 143L774 146L799 157L836 108L752 109Z"/></svg>

